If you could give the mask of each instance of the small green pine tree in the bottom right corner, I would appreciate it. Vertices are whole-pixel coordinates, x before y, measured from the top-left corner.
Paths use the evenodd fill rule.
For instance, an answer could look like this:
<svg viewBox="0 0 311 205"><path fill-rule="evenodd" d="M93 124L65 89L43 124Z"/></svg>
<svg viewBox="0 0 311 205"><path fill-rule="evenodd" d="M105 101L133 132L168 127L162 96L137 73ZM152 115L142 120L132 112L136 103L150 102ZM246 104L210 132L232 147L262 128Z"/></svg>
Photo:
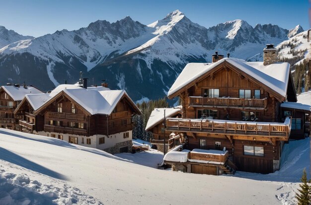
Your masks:
<svg viewBox="0 0 311 205"><path fill-rule="evenodd" d="M311 187L309 185L310 181L308 182L307 179L306 168L300 180L302 182L302 184L299 185L301 189L298 189L299 193L296 193L298 205L311 205Z"/></svg>

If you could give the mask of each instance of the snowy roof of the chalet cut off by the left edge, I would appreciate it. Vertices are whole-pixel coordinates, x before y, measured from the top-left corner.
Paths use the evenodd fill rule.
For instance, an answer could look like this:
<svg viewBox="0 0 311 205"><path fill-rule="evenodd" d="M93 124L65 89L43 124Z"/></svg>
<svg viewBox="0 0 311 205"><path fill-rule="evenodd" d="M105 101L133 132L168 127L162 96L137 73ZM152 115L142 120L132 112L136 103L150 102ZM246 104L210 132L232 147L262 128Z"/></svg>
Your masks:
<svg viewBox="0 0 311 205"><path fill-rule="evenodd" d="M9 95L14 101L22 100L27 94L39 94L43 93L41 90L33 86L20 86L16 87L14 85L3 85L1 88Z"/></svg>

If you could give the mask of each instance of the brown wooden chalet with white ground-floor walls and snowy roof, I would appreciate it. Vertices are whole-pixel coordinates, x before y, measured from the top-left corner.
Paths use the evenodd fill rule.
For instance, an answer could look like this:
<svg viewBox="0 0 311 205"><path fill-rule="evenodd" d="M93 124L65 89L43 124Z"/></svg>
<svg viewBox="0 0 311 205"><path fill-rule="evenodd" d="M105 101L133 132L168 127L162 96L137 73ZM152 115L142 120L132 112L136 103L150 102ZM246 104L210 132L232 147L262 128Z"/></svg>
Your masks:
<svg viewBox="0 0 311 205"><path fill-rule="evenodd" d="M124 90L65 84L26 96L15 114L32 133L119 153L132 150L132 116L141 111Z"/></svg>

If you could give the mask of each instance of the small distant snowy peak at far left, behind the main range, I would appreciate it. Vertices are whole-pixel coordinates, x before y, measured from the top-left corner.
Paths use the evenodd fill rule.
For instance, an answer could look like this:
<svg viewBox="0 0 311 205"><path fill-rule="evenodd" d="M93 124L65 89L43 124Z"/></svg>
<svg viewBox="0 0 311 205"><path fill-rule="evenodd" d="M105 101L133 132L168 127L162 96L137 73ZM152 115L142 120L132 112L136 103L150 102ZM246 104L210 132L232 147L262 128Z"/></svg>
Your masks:
<svg viewBox="0 0 311 205"><path fill-rule="evenodd" d="M23 36L13 30L7 30L4 26L0 26L0 48L20 40L33 39L32 36Z"/></svg>

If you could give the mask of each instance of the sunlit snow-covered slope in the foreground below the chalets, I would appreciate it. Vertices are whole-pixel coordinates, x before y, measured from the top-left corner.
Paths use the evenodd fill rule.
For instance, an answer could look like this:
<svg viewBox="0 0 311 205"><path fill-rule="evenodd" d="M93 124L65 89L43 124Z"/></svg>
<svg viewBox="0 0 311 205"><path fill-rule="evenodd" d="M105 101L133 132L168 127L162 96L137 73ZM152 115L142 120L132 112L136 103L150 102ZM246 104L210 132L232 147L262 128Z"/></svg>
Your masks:
<svg viewBox="0 0 311 205"><path fill-rule="evenodd" d="M292 205L302 168L310 170L309 138L285 145L282 175L237 172L237 177L158 170L56 138L4 129L0 142L0 204Z"/></svg>

